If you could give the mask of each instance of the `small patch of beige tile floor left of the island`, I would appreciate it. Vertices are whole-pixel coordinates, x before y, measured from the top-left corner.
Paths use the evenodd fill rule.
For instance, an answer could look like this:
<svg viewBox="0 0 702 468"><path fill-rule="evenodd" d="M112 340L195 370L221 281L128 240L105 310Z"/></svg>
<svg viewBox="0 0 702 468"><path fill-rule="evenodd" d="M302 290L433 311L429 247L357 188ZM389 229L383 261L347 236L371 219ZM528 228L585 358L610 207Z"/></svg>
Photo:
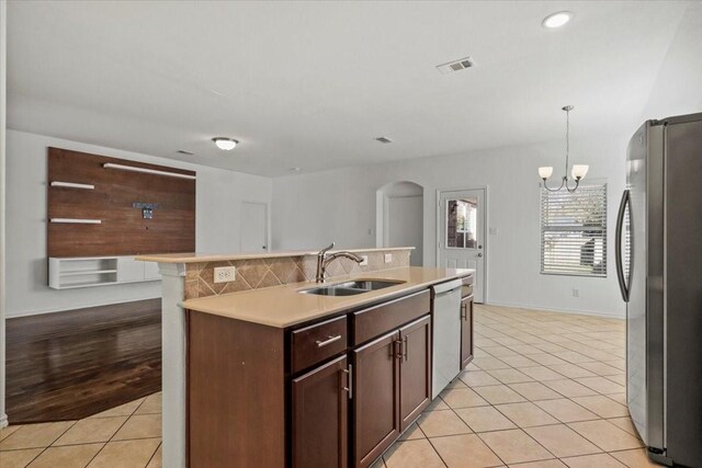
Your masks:
<svg viewBox="0 0 702 468"><path fill-rule="evenodd" d="M161 393L79 421L0 430L0 468L160 468Z"/></svg>

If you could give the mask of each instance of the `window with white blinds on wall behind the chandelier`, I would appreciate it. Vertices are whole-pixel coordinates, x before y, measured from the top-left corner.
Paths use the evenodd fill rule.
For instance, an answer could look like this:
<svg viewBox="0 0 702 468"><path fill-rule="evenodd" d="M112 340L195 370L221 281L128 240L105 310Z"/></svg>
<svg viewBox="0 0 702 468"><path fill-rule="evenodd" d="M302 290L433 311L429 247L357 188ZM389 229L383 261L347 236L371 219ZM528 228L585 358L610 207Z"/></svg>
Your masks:
<svg viewBox="0 0 702 468"><path fill-rule="evenodd" d="M541 273L607 276L607 184L542 187Z"/></svg>

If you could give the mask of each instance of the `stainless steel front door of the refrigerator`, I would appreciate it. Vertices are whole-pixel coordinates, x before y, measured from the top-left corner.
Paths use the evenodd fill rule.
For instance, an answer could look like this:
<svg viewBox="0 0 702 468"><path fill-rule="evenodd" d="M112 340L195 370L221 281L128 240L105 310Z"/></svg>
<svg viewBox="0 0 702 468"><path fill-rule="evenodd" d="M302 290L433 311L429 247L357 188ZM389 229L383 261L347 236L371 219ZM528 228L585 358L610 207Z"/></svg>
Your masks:
<svg viewBox="0 0 702 468"><path fill-rule="evenodd" d="M631 224L626 284L626 402L632 421L646 445L661 449L663 303L652 312L648 295L652 281L656 282L650 276L650 263L663 259L661 126L647 122L632 137L626 155L626 190ZM652 225L657 225L653 226L653 231ZM654 239L660 243L655 246Z"/></svg>

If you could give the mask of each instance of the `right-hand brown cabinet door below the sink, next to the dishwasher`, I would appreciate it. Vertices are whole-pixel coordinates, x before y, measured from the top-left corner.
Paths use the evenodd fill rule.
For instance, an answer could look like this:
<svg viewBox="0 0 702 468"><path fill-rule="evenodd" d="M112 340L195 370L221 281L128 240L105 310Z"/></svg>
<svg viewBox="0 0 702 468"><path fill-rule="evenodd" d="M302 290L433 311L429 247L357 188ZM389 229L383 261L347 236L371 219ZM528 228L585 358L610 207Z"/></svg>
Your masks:
<svg viewBox="0 0 702 468"><path fill-rule="evenodd" d="M400 431L405 431L431 401L431 319L426 316L399 329Z"/></svg>

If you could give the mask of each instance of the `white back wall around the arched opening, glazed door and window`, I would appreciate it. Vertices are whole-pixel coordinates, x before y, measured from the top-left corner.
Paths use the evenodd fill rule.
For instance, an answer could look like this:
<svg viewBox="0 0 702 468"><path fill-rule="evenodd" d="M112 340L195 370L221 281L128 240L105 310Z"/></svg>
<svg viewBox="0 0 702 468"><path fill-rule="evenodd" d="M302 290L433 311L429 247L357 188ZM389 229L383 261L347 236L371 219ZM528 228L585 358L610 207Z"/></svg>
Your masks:
<svg viewBox="0 0 702 468"><path fill-rule="evenodd" d="M571 139L571 161L590 164L588 180L608 182L608 277L540 274L540 165L563 173L564 141L506 147L467 155L416 159L291 175L273 182L274 249L361 248L375 241L376 190L393 181L424 187L423 259L435 265L438 189L488 187L488 289L490 304L624 315L614 267L614 226L624 189L629 136ZM579 298L573 297L578 288Z"/></svg>

